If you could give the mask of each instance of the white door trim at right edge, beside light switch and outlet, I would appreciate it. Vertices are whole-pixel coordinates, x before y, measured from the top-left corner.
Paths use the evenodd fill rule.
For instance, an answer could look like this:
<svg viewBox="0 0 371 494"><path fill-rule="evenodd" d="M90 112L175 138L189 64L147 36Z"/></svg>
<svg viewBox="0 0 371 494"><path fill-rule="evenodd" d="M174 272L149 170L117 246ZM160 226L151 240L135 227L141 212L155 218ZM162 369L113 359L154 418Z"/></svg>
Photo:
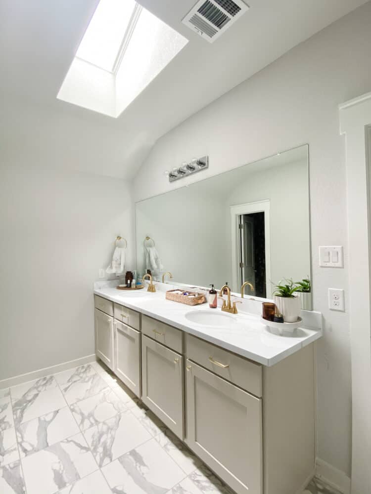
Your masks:
<svg viewBox="0 0 371 494"><path fill-rule="evenodd" d="M371 93L339 105L348 199L351 493L371 492Z"/></svg>

